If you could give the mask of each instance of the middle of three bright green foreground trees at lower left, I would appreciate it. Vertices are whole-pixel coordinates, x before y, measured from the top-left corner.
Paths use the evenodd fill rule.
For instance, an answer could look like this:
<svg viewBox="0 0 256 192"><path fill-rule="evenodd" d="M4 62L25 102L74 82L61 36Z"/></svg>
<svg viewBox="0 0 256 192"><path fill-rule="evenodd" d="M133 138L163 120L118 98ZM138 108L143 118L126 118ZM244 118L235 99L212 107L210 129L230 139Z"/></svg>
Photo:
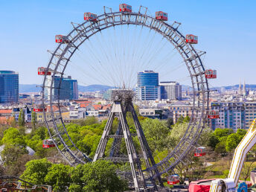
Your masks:
<svg viewBox="0 0 256 192"><path fill-rule="evenodd" d="M65 191L71 182L70 166L52 164L45 176L45 182L54 187L54 191Z"/></svg>

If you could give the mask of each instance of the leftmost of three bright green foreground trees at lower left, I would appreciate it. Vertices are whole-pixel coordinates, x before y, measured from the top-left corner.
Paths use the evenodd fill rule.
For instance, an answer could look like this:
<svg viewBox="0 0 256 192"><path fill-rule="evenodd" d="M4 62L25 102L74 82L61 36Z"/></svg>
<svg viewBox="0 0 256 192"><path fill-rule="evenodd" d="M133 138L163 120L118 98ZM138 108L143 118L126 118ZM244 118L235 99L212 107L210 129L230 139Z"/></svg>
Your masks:
<svg viewBox="0 0 256 192"><path fill-rule="evenodd" d="M50 161L47 159L36 159L28 161L25 165L26 169L22 173L21 178L27 182L31 182L37 185L45 184L45 176L48 173L48 169L52 166Z"/></svg>

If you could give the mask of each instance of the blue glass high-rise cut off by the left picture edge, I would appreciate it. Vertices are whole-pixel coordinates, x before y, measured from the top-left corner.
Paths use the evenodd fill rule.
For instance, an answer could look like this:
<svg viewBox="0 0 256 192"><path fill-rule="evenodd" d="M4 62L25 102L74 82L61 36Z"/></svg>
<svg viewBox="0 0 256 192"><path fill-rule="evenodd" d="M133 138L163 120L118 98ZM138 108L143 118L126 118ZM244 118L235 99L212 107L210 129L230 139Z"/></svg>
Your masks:
<svg viewBox="0 0 256 192"><path fill-rule="evenodd" d="M0 103L18 103L19 74L14 71L0 71Z"/></svg>

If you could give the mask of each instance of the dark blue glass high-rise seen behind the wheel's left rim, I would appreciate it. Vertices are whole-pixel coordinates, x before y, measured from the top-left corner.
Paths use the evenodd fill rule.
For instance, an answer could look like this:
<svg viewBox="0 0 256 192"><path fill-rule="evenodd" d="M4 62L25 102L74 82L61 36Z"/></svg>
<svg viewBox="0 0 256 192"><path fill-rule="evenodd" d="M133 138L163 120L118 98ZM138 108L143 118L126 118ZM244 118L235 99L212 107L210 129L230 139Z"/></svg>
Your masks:
<svg viewBox="0 0 256 192"><path fill-rule="evenodd" d="M60 86L60 100L75 100L78 99L78 85L77 80L72 80L71 76L68 77L58 77L54 76L48 78L48 82L45 82L46 85L51 86L51 80L54 81L53 87ZM61 82L61 84L60 84ZM57 99L59 95L59 89L54 89L52 92L53 99ZM45 96L50 96L50 89L45 89Z"/></svg>

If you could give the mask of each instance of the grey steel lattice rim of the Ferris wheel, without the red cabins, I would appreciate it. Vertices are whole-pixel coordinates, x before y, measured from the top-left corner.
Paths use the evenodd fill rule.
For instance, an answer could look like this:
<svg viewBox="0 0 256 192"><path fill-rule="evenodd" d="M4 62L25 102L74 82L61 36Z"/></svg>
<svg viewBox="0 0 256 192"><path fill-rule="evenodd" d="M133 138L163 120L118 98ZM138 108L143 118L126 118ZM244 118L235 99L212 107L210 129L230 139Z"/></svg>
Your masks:
<svg viewBox="0 0 256 192"><path fill-rule="evenodd" d="M206 114L208 111L208 80L204 76L205 68L200 59L200 52L197 53L193 48L193 45L185 42L185 36L178 31L180 23L173 22L173 25L167 24L167 22L159 21L152 16L142 13L104 13L97 16L97 22L83 22L82 24L72 24L74 29L68 33L68 43L60 43L55 51L52 52L51 59L48 63L47 70L52 72L53 77L56 74L60 74L60 83L57 87L54 87L54 80L48 80L45 75L42 83L42 105L50 105L51 118L46 118L45 112L45 124L48 127L50 136L54 139L54 143L57 146L59 152L63 155L63 158L71 165L80 163L86 163L91 161L86 154L83 154L77 149L73 141L71 141L68 132L65 129L65 124L62 119L62 112L60 109L60 97L53 97L52 92L54 89L58 89L60 95L61 77L64 75L64 71L68 62L71 60L74 52L77 48L88 40L91 36L95 35L106 28L112 28L117 25L141 25L149 28L150 30L160 33L167 41L169 41L174 48L179 52L185 65L188 68L188 72L191 76L191 84L193 89L193 109L191 122L188 124L185 135L182 137L179 144L175 149L170 152L158 164L151 167L147 167L144 172L150 172L153 170L159 170L155 173L153 178L156 179L161 174L166 173L182 161L187 156L188 152L196 145L196 141L205 127ZM50 96L45 95L45 89L50 89ZM59 110L59 117L54 117L53 107L57 106ZM142 139L142 138L141 138ZM145 179L149 179L150 176L145 175Z"/></svg>

